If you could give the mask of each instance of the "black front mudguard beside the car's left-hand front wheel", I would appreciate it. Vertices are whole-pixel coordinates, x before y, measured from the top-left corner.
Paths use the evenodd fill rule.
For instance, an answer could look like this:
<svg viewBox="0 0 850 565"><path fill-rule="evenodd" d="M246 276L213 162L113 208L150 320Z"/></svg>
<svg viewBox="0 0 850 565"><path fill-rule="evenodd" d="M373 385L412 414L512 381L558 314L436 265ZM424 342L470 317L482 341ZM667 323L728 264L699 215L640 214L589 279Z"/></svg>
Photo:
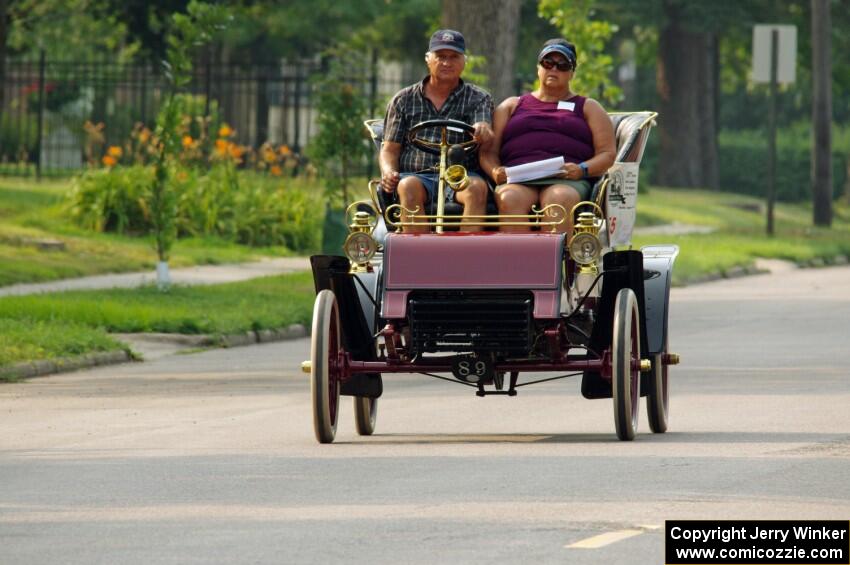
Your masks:
<svg viewBox="0 0 850 565"><path fill-rule="evenodd" d="M310 257L310 265L313 267L316 293L328 289L336 296L345 350L357 361L375 361L373 332L363 314L354 279L348 273L351 266L348 259L335 255L313 255ZM383 388L380 374L357 373L342 384L340 394L378 398Z"/></svg>

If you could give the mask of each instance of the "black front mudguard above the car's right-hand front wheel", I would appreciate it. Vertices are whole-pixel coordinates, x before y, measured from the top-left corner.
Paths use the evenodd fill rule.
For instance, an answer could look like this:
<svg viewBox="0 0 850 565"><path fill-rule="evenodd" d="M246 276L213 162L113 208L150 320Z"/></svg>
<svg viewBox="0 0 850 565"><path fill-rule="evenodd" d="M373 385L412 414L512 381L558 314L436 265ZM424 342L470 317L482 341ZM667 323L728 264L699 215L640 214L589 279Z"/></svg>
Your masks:
<svg viewBox="0 0 850 565"><path fill-rule="evenodd" d="M611 251L602 257L602 296L599 298L596 323L590 334L590 349L598 354L611 347L614 332L614 302L617 293L631 288L637 297L640 312L640 355L646 358L646 306L643 289L643 254L640 251ZM643 375L641 392L643 393ZM581 379L581 394L585 398L611 398L611 383L598 371L585 371Z"/></svg>

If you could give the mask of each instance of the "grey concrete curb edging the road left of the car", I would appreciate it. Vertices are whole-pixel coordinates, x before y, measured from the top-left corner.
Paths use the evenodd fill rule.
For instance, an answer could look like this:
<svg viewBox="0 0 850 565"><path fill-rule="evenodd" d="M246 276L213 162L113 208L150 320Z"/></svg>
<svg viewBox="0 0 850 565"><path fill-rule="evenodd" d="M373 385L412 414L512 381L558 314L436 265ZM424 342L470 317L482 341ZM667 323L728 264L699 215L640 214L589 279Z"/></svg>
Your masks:
<svg viewBox="0 0 850 565"><path fill-rule="evenodd" d="M255 345L257 343L271 343L275 341L286 341L306 337L307 328L303 324L292 324L277 330L256 330L242 334L230 334L224 336L209 335L186 335L186 334L144 334L149 341L165 343L178 343L188 347L239 347L243 345ZM0 369L0 382L15 381L19 379L30 379L33 377L44 377L57 373L68 373L80 369L91 369L102 365L118 365L135 361L135 357L123 349L117 351L105 351L90 353L80 357L68 357L54 360L38 360L18 363L4 369Z"/></svg>

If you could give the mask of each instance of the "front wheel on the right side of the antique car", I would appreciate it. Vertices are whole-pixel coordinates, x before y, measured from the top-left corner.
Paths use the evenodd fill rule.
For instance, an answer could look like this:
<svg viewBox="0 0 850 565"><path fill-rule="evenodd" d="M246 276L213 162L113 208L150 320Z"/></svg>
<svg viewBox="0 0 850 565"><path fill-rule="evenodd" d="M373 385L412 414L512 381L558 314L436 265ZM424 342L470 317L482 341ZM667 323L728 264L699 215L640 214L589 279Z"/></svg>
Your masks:
<svg viewBox="0 0 850 565"><path fill-rule="evenodd" d="M640 313L634 291L624 288L614 302L611 388L614 426L623 441L635 438L640 399Z"/></svg>

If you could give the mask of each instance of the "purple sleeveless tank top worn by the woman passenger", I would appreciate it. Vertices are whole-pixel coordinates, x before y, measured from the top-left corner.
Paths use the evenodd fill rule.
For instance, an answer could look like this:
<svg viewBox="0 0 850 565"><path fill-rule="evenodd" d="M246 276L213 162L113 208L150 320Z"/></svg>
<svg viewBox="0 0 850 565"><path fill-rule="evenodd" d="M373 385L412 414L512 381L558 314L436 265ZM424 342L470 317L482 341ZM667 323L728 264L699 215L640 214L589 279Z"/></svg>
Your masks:
<svg viewBox="0 0 850 565"><path fill-rule="evenodd" d="M570 109L558 109L558 102L541 102L523 94L502 133L499 157L511 167L552 157L567 163L581 163L593 157L593 133L584 119L584 96L567 101ZM561 102L561 104L564 104Z"/></svg>

